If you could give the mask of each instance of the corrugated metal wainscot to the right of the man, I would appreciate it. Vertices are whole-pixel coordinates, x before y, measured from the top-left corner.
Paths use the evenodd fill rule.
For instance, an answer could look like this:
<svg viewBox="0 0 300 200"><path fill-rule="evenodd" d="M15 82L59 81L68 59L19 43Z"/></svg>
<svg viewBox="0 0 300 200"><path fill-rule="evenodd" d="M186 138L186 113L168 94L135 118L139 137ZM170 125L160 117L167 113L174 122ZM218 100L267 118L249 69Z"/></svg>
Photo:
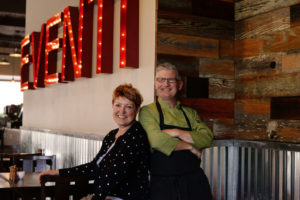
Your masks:
<svg viewBox="0 0 300 200"><path fill-rule="evenodd" d="M214 199L300 200L299 144L218 141L202 167Z"/></svg>

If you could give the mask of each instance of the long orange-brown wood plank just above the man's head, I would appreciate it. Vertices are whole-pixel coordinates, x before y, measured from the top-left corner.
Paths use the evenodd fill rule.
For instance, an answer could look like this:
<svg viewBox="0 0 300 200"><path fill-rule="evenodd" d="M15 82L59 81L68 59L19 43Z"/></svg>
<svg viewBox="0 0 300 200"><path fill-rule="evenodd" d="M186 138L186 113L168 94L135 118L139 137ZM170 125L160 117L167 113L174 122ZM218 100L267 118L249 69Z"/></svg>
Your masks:
<svg viewBox="0 0 300 200"><path fill-rule="evenodd" d="M157 53L218 58L219 41L194 36L157 33Z"/></svg>

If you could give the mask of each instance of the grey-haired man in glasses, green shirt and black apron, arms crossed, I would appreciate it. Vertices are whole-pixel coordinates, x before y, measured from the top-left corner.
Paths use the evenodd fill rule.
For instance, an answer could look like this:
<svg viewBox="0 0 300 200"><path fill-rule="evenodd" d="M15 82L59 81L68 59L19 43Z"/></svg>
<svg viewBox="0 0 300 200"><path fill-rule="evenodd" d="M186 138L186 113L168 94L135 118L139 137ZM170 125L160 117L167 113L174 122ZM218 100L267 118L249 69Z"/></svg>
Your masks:
<svg viewBox="0 0 300 200"><path fill-rule="evenodd" d="M177 100L182 85L174 65L159 65L155 78L158 101L144 106L139 114L152 148L152 200L212 199L200 157L201 150L211 145L213 133L195 110Z"/></svg>

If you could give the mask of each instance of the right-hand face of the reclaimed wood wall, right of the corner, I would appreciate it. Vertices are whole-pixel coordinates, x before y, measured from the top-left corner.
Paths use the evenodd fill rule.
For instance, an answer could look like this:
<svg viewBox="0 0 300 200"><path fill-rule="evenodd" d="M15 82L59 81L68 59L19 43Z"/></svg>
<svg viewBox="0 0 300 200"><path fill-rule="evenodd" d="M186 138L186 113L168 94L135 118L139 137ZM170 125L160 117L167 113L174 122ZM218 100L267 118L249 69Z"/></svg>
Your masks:
<svg viewBox="0 0 300 200"><path fill-rule="evenodd" d="M299 16L300 0L235 2L235 129L249 138L300 142Z"/></svg>

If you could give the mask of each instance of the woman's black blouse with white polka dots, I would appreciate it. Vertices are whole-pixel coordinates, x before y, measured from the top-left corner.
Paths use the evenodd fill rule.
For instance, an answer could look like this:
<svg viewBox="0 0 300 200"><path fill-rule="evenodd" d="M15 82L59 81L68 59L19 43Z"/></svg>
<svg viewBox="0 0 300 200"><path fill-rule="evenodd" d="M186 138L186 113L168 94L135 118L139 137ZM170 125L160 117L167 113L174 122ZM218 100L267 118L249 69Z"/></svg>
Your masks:
<svg viewBox="0 0 300 200"><path fill-rule="evenodd" d="M148 200L150 146L139 122L134 122L97 164L113 144L117 132L118 129L115 129L105 136L99 153L90 163L60 169L59 174L94 179L95 193L92 199L116 196L124 200Z"/></svg>

